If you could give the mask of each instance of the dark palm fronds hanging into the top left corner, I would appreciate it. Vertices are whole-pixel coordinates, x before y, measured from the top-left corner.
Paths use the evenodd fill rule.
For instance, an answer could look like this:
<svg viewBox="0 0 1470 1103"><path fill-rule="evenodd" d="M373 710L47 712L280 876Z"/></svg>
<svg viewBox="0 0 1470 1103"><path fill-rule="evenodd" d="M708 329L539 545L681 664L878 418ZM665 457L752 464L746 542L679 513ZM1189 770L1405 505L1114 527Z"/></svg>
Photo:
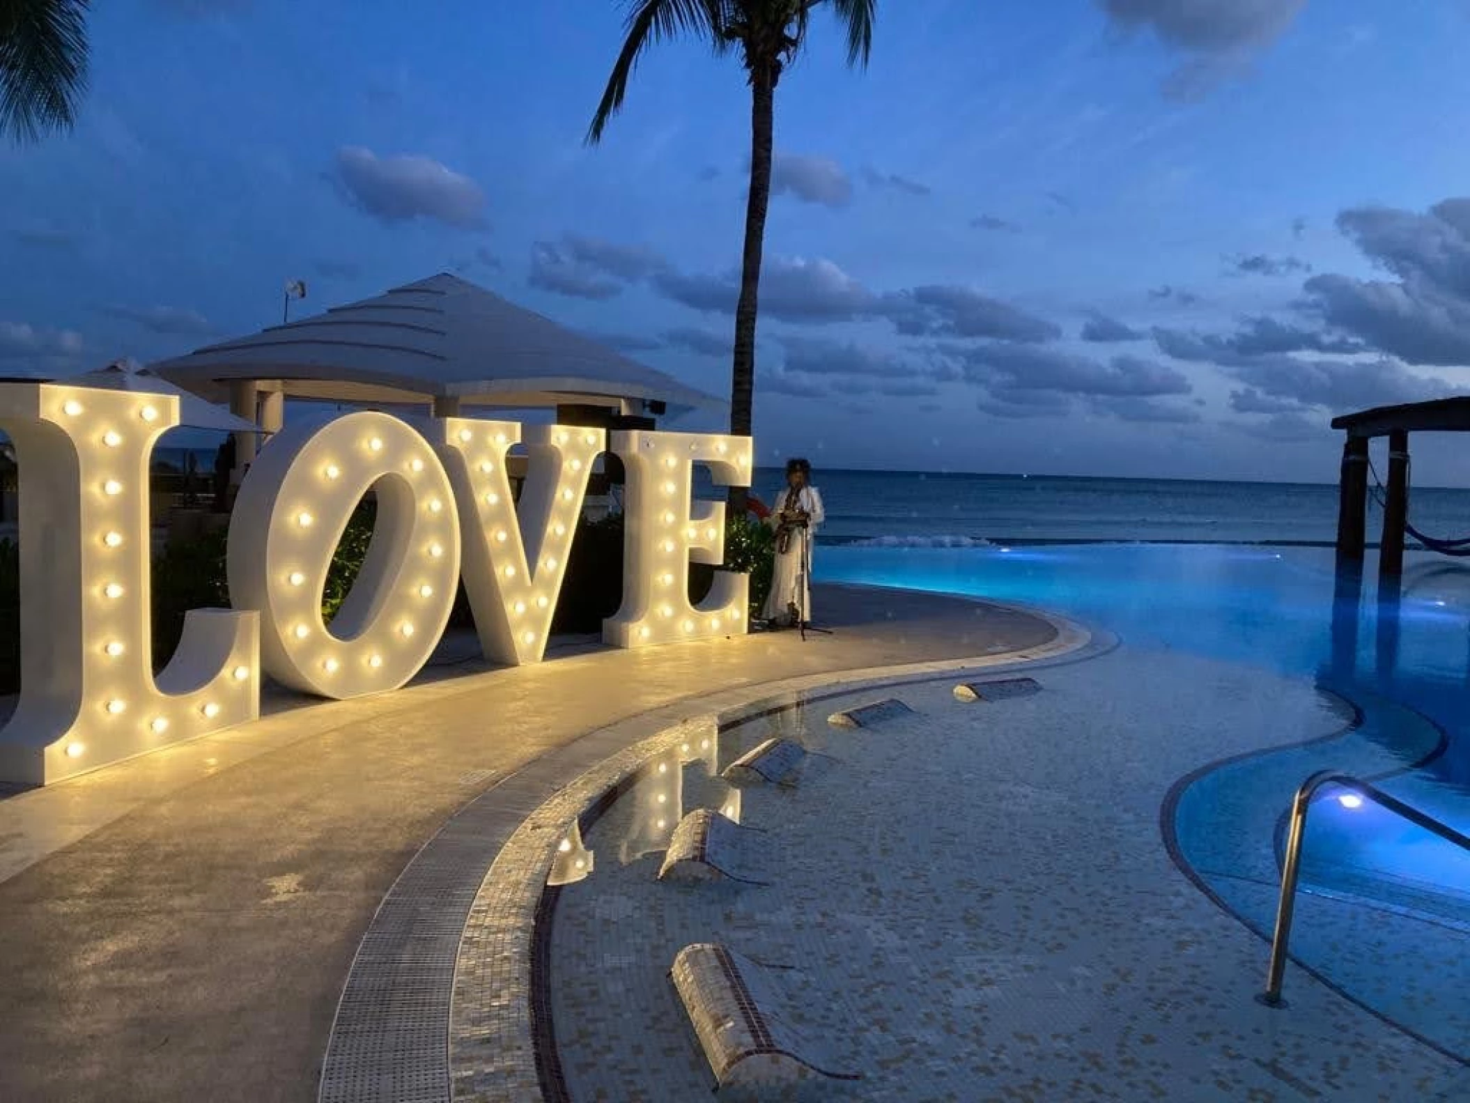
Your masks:
<svg viewBox="0 0 1470 1103"><path fill-rule="evenodd" d="M66 131L87 91L91 0L0 0L0 135Z"/></svg>

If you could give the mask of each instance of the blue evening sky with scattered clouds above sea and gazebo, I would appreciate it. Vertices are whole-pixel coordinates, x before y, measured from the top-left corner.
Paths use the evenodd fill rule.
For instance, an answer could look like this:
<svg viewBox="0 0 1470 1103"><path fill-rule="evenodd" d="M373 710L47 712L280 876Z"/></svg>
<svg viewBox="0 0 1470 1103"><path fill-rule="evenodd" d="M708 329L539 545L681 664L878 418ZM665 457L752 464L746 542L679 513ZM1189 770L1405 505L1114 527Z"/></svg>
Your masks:
<svg viewBox="0 0 1470 1103"><path fill-rule="evenodd" d="M451 271L728 391L735 59L659 46L587 147L612 0L96 9L76 132L0 147L0 374ZM1326 481L1333 413L1470 388L1470 6L878 9L778 90L763 462Z"/></svg>

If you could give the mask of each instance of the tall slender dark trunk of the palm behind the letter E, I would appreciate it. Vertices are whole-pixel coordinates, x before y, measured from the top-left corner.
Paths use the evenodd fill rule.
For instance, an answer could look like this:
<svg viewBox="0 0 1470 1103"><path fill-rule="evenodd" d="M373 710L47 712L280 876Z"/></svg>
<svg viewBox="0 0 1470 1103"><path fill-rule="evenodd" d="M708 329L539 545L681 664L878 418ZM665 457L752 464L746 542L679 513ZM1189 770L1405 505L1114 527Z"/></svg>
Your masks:
<svg viewBox="0 0 1470 1103"><path fill-rule="evenodd" d="M756 312L760 262L770 206L770 157L775 134L776 71L757 66L750 74L750 196L745 206L745 253L741 260L739 303L735 307L735 363L731 369L731 434L751 434L756 391ZM731 491L731 512L745 515L745 491Z"/></svg>

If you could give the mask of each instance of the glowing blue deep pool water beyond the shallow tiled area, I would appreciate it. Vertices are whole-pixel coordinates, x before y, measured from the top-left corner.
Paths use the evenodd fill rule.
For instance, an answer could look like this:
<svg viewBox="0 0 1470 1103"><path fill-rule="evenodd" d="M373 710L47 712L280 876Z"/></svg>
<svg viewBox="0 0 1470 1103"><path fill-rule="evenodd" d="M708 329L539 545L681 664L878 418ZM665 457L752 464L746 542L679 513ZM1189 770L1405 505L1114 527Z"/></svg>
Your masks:
<svg viewBox="0 0 1470 1103"><path fill-rule="evenodd" d="M814 575L1035 604L1117 632L1130 647L1316 679L1364 707L1354 744L1386 756L1372 766L1380 788L1470 832L1470 569L1442 557L1410 553L1401 602L1382 618L1372 556L1361 600L1336 603L1333 616L1330 549L833 546L820 549ZM1426 749L1429 729L1436 734ZM1270 771L1230 769L1210 784L1244 785L1277 822L1307 774L1357 760L1344 744L1308 757L1283 754ZM1304 866L1308 884L1470 922L1470 856L1380 810L1322 802Z"/></svg>

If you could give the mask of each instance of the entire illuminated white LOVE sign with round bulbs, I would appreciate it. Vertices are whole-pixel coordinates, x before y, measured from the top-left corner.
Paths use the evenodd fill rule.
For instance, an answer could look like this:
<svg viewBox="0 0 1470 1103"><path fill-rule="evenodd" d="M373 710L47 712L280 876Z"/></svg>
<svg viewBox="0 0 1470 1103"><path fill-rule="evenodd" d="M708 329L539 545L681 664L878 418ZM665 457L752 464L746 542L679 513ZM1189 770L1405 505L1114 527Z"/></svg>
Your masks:
<svg viewBox="0 0 1470 1103"><path fill-rule="evenodd" d="M262 449L229 522L232 610L197 609L153 675L148 457L178 399L0 384L19 468L21 700L0 731L0 779L46 784L253 721L260 677L329 699L394 690L428 660L463 578L491 662L539 662L592 462L628 471L619 647L745 629L747 578L700 606L689 562L723 560L725 507L694 503L695 463L748 485L748 437L614 432L385 413L291 426ZM519 504L507 454L528 453ZM322 591L363 494L378 513L331 622Z"/></svg>

